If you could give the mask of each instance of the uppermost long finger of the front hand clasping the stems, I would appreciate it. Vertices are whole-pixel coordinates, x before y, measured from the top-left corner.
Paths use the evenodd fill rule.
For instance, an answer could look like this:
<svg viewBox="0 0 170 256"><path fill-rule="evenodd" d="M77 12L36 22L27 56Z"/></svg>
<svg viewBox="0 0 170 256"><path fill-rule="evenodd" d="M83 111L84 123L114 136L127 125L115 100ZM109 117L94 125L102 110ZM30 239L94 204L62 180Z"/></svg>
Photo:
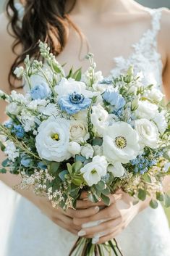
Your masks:
<svg viewBox="0 0 170 256"><path fill-rule="evenodd" d="M108 218L115 219L119 217L120 217L120 212L116 208L116 205L114 204L104 208L103 210L100 210L98 213L88 218L74 218L74 223L78 226L82 225L82 228L85 228L86 227L85 223L89 223L91 221L104 220Z"/></svg>

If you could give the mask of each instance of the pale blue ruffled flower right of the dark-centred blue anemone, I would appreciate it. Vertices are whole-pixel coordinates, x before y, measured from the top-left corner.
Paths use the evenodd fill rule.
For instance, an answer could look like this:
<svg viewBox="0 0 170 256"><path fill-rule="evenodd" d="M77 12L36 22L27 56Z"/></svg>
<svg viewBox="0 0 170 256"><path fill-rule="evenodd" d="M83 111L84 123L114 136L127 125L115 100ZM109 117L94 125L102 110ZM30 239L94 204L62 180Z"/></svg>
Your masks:
<svg viewBox="0 0 170 256"><path fill-rule="evenodd" d="M111 90L111 88L108 88L104 92L103 99L106 100L106 102L110 103L111 106L114 107L115 113L122 110L122 108L126 104L124 97L120 95L117 91Z"/></svg>

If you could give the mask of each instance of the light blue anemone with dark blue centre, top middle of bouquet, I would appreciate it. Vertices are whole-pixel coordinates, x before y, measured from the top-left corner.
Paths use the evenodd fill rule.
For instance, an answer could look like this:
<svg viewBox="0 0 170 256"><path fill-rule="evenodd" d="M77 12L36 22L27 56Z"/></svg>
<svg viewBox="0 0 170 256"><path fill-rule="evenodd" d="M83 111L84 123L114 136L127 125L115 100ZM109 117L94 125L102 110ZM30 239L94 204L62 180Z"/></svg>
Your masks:
<svg viewBox="0 0 170 256"><path fill-rule="evenodd" d="M82 94L74 92L72 94L61 96L58 103L61 110L67 112L69 115L73 115L80 112L80 110L87 109L91 104L91 99L85 98Z"/></svg>

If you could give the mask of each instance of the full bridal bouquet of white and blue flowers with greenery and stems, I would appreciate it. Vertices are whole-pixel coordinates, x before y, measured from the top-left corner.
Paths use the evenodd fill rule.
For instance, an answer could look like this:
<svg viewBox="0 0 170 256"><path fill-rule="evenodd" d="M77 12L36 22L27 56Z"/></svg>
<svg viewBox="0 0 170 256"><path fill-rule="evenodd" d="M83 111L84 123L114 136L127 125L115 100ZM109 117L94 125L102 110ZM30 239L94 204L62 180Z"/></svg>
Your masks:
<svg viewBox="0 0 170 256"><path fill-rule="evenodd" d="M24 95L0 91L10 119L0 125L0 146L7 154L1 173L22 176L20 188L33 187L54 207L76 207L82 191L92 202L109 205L109 194L122 189L137 200L150 196L170 206L163 177L170 174L170 112L154 85L142 74L103 78L90 65L64 73L64 67L40 42L42 61L27 56L14 70L27 86ZM70 255L122 255L116 240L93 244L80 238Z"/></svg>

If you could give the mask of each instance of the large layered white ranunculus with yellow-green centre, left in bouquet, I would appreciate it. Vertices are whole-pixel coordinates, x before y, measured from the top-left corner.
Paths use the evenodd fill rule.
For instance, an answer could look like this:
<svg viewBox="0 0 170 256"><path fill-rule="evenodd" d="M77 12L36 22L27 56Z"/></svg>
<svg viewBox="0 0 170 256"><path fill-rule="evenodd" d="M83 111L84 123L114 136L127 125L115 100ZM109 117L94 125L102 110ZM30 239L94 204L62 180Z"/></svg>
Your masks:
<svg viewBox="0 0 170 256"><path fill-rule="evenodd" d="M62 162L71 154L69 147L69 120L60 117L48 117L38 128L35 146L41 158Z"/></svg>

